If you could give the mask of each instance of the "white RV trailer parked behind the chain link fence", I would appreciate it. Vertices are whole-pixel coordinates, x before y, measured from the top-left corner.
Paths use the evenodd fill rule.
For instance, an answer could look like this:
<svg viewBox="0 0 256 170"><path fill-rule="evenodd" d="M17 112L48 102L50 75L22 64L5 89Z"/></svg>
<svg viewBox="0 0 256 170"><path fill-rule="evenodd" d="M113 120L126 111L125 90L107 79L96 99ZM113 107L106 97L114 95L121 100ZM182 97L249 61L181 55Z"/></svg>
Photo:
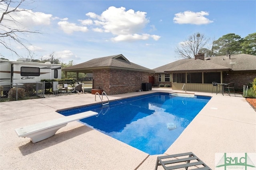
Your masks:
<svg viewBox="0 0 256 170"><path fill-rule="evenodd" d="M3 86L4 92L8 92L14 83L35 83L42 79L61 79L60 64L30 61L30 59L0 60L0 86Z"/></svg>

